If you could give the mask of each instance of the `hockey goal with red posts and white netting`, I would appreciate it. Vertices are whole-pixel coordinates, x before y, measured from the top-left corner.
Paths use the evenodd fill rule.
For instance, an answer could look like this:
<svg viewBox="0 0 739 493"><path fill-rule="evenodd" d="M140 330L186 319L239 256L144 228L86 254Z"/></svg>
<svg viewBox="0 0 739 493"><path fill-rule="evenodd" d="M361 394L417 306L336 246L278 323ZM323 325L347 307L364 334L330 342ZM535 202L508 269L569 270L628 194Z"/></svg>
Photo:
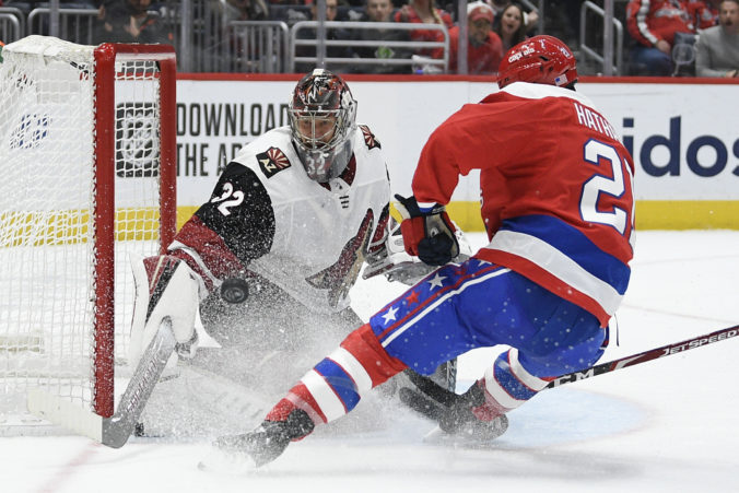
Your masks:
<svg viewBox="0 0 739 493"><path fill-rule="evenodd" d="M2 57L0 430L32 387L109 416L129 254L176 228L175 54L30 36Z"/></svg>

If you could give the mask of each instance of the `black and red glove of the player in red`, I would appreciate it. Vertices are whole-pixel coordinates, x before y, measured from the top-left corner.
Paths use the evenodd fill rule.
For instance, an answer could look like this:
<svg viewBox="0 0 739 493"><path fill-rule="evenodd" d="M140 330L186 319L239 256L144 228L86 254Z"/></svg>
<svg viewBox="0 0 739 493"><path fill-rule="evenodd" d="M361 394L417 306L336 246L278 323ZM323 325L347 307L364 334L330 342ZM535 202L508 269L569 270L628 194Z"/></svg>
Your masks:
<svg viewBox="0 0 739 493"><path fill-rule="evenodd" d="M414 197L396 195L395 198L400 202L397 206L403 219L400 231L409 255L418 256L430 266L443 266L459 255L456 227L444 206L422 211Z"/></svg>

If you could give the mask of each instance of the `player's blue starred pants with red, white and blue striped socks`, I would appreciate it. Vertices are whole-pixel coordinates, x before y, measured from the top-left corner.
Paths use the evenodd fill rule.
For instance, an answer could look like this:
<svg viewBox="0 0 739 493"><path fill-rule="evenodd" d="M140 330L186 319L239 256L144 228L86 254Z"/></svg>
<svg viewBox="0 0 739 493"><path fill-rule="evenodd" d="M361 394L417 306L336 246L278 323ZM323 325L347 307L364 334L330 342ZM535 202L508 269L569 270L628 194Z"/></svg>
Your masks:
<svg viewBox="0 0 739 493"><path fill-rule="evenodd" d="M591 366L603 353L607 329L523 275L472 257L442 267L386 305L308 372L286 400L316 422L331 421L406 366L430 375L462 353L498 344L512 349L485 371L484 387L488 403L503 413L549 380ZM281 414L279 408L272 418Z"/></svg>

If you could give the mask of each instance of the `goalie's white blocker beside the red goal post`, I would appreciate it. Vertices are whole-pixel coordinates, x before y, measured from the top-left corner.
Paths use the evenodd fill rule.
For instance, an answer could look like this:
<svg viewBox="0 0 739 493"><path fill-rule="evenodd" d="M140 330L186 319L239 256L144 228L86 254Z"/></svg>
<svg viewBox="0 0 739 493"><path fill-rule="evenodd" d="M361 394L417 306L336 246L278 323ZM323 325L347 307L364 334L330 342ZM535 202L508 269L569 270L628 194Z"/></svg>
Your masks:
<svg viewBox="0 0 739 493"><path fill-rule="evenodd" d="M197 349L195 319L200 300L199 277L172 256L131 258L136 298L129 362L136 366L164 319L169 319L177 352L189 356Z"/></svg>

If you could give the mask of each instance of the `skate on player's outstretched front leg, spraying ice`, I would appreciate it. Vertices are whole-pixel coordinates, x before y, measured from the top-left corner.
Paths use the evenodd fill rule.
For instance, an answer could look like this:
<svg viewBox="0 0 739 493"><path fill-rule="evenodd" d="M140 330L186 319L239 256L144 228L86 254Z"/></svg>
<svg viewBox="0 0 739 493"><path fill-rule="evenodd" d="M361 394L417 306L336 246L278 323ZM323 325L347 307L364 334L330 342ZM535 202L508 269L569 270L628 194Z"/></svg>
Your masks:
<svg viewBox="0 0 739 493"><path fill-rule="evenodd" d="M213 454L198 467L203 470L230 469L232 472L254 470L280 457L290 442L307 436L314 427L308 414L295 409L284 421L265 420L249 433L218 438L213 443Z"/></svg>

